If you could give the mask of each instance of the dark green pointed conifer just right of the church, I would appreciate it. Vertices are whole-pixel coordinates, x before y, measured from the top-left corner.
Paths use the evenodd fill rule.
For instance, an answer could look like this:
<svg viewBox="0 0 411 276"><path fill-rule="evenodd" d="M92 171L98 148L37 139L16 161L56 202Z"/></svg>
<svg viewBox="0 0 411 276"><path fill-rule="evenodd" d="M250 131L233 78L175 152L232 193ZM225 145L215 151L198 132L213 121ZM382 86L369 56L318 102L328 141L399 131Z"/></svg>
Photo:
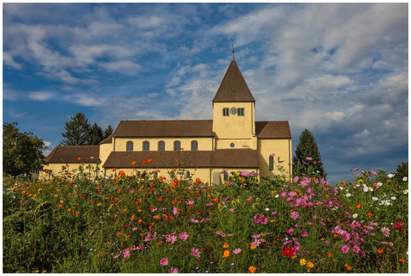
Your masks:
<svg viewBox="0 0 411 276"><path fill-rule="evenodd" d="M306 159L307 157L312 157L312 160ZM323 168L323 161L321 161L321 155L314 140L314 135L305 129L300 135L299 144L292 158L293 175L307 175L308 166L314 168L313 172L319 171L319 175L324 178L327 177L327 171Z"/></svg>

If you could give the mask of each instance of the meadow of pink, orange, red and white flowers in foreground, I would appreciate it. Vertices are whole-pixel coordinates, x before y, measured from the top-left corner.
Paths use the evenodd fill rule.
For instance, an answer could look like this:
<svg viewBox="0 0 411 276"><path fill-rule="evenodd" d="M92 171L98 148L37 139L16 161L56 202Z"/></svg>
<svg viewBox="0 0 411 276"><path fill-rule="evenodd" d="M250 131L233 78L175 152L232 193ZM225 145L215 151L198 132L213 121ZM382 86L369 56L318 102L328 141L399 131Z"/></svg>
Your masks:
<svg viewBox="0 0 411 276"><path fill-rule="evenodd" d="M137 160L138 161L138 160ZM4 273L408 273L408 179L3 179ZM195 177L195 175L194 175Z"/></svg>

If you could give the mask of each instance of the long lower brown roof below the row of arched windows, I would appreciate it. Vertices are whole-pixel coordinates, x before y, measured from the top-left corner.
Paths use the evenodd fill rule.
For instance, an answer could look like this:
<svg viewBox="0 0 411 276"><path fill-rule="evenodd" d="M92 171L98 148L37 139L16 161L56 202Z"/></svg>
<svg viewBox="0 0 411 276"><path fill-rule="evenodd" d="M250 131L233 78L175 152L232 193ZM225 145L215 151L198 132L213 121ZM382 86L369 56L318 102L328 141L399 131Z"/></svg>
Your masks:
<svg viewBox="0 0 411 276"><path fill-rule="evenodd" d="M142 166L142 161L152 163ZM136 161L136 166L132 166ZM184 164L183 164L184 163ZM258 168L257 150L183 150L183 151L117 151L111 152L103 168Z"/></svg>

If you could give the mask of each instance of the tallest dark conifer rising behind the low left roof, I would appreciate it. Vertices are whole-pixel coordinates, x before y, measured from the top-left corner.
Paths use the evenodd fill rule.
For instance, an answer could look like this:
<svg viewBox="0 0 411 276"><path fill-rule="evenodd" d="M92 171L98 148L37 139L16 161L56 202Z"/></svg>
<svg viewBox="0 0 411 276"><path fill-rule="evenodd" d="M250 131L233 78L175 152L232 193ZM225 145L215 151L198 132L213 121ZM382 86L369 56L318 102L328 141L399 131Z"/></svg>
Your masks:
<svg viewBox="0 0 411 276"><path fill-rule="evenodd" d="M61 133L63 140L60 142L62 146L84 146L88 144L90 134L90 124L83 113L78 112L64 126L66 132Z"/></svg>

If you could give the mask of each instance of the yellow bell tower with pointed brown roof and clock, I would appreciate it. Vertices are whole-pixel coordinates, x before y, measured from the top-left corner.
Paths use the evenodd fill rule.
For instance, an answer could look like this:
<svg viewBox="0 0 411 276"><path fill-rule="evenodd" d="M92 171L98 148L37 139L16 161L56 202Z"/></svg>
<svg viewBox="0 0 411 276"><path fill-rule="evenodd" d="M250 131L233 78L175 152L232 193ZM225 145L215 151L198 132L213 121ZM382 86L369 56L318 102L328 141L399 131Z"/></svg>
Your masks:
<svg viewBox="0 0 411 276"><path fill-rule="evenodd" d="M257 149L255 99L241 75L234 55L212 100L212 107L212 131L216 134L216 149Z"/></svg>

